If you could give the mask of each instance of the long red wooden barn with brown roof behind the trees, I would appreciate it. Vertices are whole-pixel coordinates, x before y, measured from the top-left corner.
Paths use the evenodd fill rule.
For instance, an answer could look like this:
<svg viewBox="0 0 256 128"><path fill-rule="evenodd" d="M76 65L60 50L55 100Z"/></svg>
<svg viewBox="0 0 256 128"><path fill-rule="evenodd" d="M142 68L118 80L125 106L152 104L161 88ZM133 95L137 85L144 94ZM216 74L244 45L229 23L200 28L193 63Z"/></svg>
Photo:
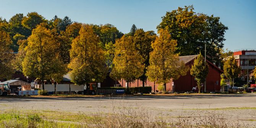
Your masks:
<svg viewBox="0 0 256 128"><path fill-rule="evenodd" d="M183 61L187 66L191 68L194 63L194 59L198 55L189 55L180 57L180 61ZM209 73L206 78L206 92L219 92L220 91L220 74L223 73L220 68L215 66L213 63L206 60L209 65ZM173 82L173 86L172 86ZM124 79L118 81L120 86L127 87L127 83ZM133 83L129 83L129 87L140 87L142 86L142 81L136 80ZM146 81L145 86L151 86L152 92L157 90L158 84L152 81ZM181 76L179 79L173 80L170 79L169 83L166 83L167 91L171 92L186 92L192 91L192 88L196 86L196 81L193 76L190 75L190 70L187 72L185 76ZM204 87L203 89L204 90Z"/></svg>

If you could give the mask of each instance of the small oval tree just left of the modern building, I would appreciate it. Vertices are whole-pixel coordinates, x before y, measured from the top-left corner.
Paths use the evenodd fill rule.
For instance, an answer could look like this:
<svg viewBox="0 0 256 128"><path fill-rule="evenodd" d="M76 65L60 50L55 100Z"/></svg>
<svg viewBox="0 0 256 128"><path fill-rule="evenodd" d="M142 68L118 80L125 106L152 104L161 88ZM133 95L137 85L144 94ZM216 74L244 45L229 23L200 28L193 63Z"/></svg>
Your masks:
<svg viewBox="0 0 256 128"><path fill-rule="evenodd" d="M241 67L237 65L233 55L224 63L223 69L225 76L232 81L232 85L234 85L233 79L238 78L238 75L241 72Z"/></svg>

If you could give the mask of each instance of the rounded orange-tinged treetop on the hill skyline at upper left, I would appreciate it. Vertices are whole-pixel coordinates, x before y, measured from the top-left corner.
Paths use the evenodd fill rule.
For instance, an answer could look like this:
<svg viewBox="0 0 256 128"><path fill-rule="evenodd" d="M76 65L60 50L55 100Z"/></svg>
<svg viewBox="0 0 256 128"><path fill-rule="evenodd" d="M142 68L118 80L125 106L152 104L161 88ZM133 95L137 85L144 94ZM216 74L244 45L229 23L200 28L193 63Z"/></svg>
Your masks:
<svg viewBox="0 0 256 128"><path fill-rule="evenodd" d="M44 22L44 17L39 15L37 12L28 13L22 20L23 26L34 29L40 23Z"/></svg>

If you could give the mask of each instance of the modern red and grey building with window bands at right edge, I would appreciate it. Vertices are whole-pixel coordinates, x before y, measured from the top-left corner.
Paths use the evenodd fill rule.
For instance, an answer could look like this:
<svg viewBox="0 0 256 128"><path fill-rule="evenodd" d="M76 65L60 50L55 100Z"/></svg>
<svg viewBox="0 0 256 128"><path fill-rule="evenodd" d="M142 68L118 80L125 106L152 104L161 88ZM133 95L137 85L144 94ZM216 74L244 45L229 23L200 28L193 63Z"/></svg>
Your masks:
<svg viewBox="0 0 256 128"><path fill-rule="evenodd" d="M233 55L237 61L237 64L242 69L240 73L241 79L243 81L250 80L251 78L248 78L247 75L256 66L256 50L239 50L234 52Z"/></svg>

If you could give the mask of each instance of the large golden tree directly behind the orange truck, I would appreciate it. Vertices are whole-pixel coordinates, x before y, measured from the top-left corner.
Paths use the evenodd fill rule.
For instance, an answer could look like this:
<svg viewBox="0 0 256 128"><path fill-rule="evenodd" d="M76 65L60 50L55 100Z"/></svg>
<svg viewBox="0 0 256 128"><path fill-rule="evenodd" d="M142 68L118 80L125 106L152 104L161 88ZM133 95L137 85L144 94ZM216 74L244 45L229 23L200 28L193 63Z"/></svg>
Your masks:
<svg viewBox="0 0 256 128"><path fill-rule="evenodd" d="M79 36L72 41L70 59L68 67L71 69L72 82L83 85L105 79L107 67L104 50L91 25L83 24Z"/></svg>

